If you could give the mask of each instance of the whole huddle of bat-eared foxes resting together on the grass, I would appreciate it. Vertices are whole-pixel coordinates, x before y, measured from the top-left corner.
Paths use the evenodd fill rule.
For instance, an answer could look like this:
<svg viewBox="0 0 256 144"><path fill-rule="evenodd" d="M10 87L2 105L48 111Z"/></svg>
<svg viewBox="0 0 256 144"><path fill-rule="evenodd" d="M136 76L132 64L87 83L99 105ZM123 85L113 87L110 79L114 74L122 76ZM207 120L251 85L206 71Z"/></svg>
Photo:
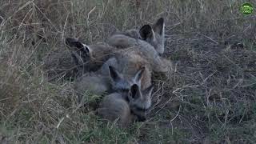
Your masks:
<svg viewBox="0 0 256 144"><path fill-rule="evenodd" d="M165 40L164 19L153 26L113 34L104 43L87 46L76 38L66 38L66 45L82 76L76 78L74 90L79 101L86 91L108 94L102 98L97 114L119 126L145 121L151 106L152 74L166 74L171 62L161 55Z"/></svg>

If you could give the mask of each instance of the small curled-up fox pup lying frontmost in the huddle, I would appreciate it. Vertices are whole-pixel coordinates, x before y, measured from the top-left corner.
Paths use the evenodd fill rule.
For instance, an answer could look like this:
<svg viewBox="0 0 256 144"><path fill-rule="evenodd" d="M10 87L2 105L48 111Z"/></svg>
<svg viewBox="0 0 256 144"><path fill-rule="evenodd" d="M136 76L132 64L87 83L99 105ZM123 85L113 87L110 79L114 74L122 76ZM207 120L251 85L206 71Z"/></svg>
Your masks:
<svg viewBox="0 0 256 144"><path fill-rule="evenodd" d="M134 121L145 121L146 110L151 104L153 86L142 91L134 84L129 92L106 95L100 103L98 114L107 120L117 120L118 126L126 127Z"/></svg>

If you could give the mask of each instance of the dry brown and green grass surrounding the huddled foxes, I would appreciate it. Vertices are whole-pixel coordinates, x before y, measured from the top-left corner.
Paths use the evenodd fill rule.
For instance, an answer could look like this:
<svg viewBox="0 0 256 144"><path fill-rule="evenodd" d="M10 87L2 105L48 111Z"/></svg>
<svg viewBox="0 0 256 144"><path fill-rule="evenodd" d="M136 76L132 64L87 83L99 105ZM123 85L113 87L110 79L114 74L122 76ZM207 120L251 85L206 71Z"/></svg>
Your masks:
<svg viewBox="0 0 256 144"><path fill-rule="evenodd" d="M255 143L256 17L242 15L241 5L0 1L0 143ZM154 77L147 122L118 129L94 115L98 96L76 101L72 73L47 81L46 55L68 50L66 37L102 42L159 17L166 19L164 56L175 70Z"/></svg>

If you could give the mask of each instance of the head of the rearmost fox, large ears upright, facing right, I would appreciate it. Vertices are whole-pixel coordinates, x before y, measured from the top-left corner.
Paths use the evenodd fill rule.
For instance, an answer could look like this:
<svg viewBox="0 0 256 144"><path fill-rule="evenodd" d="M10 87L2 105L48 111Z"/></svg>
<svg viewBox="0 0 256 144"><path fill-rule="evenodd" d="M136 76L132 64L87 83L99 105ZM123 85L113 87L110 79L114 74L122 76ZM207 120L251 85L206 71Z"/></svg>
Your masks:
<svg viewBox="0 0 256 144"><path fill-rule="evenodd" d="M165 23L163 18L159 18L158 21L153 25L144 25L139 30L139 34L142 40L149 42L158 54L164 52L164 41L165 41Z"/></svg>

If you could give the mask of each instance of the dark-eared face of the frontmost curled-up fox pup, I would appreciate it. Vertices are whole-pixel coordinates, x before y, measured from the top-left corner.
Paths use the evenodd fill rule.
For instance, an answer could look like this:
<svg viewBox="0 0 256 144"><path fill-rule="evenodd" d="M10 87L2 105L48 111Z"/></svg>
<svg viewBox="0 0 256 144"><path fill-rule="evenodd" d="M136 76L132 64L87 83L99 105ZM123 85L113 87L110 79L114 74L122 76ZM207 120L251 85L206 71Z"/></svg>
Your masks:
<svg viewBox="0 0 256 144"><path fill-rule="evenodd" d="M138 116L138 121L142 122L146 120L146 110L151 106L152 90L153 86L150 86L143 91L141 91L136 84L130 87L128 103L131 113Z"/></svg>

